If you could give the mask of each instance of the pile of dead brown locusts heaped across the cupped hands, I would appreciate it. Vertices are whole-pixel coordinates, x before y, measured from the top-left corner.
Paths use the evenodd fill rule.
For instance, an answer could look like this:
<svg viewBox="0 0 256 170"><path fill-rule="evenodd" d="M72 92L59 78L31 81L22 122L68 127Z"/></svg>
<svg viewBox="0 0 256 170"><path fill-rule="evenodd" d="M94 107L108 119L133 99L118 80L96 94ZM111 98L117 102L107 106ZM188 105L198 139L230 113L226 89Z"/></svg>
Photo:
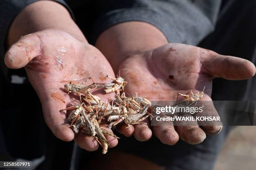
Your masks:
<svg viewBox="0 0 256 170"><path fill-rule="evenodd" d="M108 127L111 129L123 122L129 127L130 124L138 124L147 117L152 117L148 112L151 106L150 101L144 97L127 97L125 93L120 95L120 91L123 91L127 82L120 76L114 78L107 75L107 77L113 80L113 82L107 83L104 86L93 81L90 85L65 84L64 88L68 94L74 93L79 95L80 103L60 110L60 112L72 110L65 123L69 124L69 127L73 129L75 134L83 132L94 137L102 146L103 154L108 151L109 145L104 134L116 136L99 126L102 119L108 121ZM99 88L105 88L105 93L115 92L116 98L108 99L105 102L102 101L99 96L92 94L92 90Z"/></svg>

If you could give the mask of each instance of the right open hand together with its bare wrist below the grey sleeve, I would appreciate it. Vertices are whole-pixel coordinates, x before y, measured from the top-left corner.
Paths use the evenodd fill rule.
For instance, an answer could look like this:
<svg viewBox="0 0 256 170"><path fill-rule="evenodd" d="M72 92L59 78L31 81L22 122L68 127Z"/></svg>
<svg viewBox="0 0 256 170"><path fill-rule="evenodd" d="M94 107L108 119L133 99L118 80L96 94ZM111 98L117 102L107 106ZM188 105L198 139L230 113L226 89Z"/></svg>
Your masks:
<svg viewBox="0 0 256 170"><path fill-rule="evenodd" d="M174 35L175 36L175 35ZM169 37L171 40L172 37ZM125 81L125 92L146 96L149 100L175 100L177 94L202 91L210 100L212 79L248 79L255 74L255 66L247 60L221 56L213 51L185 44L167 44L168 41L157 27L145 22L129 21L116 24L97 39L96 47L104 54L112 68ZM126 93L126 94L127 94ZM207 104L211 104L207 102ZM210 111L212 109L212 111ZM206 110L217 115L215 108ZM220 132L222 126L154 126L154 134L161 142L174 145L179 137L190 144L202 142L206 135ZM127 128L121 124L119 131L125 136L134 134L145 141L151 135L149 121ZM179 135L178 135L179 134Z"/></svg>

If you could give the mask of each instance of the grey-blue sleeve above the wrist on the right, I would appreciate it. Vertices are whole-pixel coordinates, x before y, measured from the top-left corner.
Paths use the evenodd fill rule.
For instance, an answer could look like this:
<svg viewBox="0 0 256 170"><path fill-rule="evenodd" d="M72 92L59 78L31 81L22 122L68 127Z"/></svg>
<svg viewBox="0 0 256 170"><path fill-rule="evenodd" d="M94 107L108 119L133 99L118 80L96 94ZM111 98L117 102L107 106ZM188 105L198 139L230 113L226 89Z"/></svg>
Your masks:
<svg viewBox="0 0 256 170"><path fill-rule="evenodd" d="M169 42L197 45L215 28L221 0L112 0L101 2L92 41L105 29L126 21L159 28Z"/></svg>

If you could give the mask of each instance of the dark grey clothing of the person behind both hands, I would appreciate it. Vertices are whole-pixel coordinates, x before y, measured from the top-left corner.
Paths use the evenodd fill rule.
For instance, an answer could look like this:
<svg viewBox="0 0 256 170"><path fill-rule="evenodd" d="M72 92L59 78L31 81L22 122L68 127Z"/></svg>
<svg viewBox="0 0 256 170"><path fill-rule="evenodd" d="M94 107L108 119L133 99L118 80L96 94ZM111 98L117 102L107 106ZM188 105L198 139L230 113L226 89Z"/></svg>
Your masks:
<svg viewBox="0 0 256 170"><path fill-rule="evenodd" d="M32 1L3 0L0 4L2 56L10 23L15 15ZM59 2L65 5L61 0ZM254 0L77 0L75 3L67 0L67 4L91 43L111 25L140 20L158 27L169 42L201 46L224 55L246 58L255 64ZM3 64L3 61L1 63ZM77 147L76 152L73 152L72 142L56 139L44 124L40 101L32 86L29 83L17 83L20 81L15 80L13 75L19 75L20 71L10 71L5 69L5 66L2 66L2 69L0 148L4 149L0 150L0 160L41 159L43 163L38 165L38 169L68 169L71 160L71 167L79 168L86 165L84 160L88 163L90 159L97 159L94 156L100 154L99 152L89 153ZM255 100L255 84L254 77L244 81L215 79L212 99ZM26 107L27 104L30 104L29 107ZM229 127L224 127L220 134L207 136L205 141L198 145L189 145L179 140L177 145L168 146L162 144L154 135L148 142L121 136L119 145L111 150L139 155L166 169L210 170L228 129Z"/></svg>

